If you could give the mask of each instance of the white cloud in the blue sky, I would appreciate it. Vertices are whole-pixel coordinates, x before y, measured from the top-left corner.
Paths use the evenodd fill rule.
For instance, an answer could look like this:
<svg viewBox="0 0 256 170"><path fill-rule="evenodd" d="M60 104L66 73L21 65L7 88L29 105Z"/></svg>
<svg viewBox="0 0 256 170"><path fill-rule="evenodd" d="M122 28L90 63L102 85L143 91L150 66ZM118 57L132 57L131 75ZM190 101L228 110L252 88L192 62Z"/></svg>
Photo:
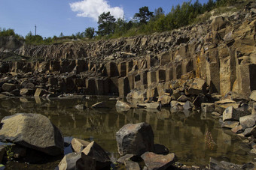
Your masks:
<svg viewBox="0 0 256 170"><path fill-rule="evenodd" d="M106 0L83 0L69 4L77 16L90 17L98 21L98 16L103 12L110 11L116 19L123 17L123 7L111 7Z"/></svg>

